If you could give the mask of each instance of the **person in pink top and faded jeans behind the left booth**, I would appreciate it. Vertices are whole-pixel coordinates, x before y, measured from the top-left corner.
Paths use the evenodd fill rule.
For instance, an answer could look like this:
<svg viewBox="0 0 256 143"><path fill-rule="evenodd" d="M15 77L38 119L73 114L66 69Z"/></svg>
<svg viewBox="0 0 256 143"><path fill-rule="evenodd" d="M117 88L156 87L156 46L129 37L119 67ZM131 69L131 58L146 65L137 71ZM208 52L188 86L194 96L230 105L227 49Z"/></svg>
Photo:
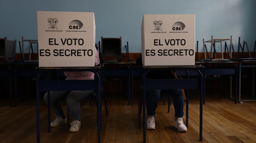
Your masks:
<svg viewBox="0 0 256 143"><path fill-rule="evenodd" d="M100 63L99 54L97 49L95 48L95 66ZM93 72L64 72L64 75L67 77L66 80L94 80ZM86 98L88 95L91 95L93 90L86 91L50 91L50 107L56 113L56 118L51 122L51 127L56 127L61 124L67 124L67 117L65 116L61 105L59 103L59 99L62 99L67 95L67 105L72 114L73 121L70 123L70 132L77 132L81 126L80 122L80 103L79 101L83 98ZM47 92L44 95L44 101L47 104L48 97Z"/></svg>

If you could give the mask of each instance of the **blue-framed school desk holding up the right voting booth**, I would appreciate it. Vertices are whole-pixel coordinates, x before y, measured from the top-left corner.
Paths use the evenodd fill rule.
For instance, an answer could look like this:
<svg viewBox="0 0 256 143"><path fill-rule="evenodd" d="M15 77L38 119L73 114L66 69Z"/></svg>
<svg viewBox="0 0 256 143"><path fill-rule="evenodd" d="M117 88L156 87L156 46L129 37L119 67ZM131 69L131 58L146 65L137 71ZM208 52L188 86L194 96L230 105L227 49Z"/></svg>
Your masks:
<svg viewBox="0 0 256 143"><path fill-rule="evenodd" d="M141 66L139 76L142 76L142 104L143 104L143 142L146 142L146 90L148 89L200 89L200 124L199 124L199 140L202 141L202 130L203 130L203 74L201 71L204 66ZM188 70L193 70L198 73L199 78L183 78L183 79L147 79L146 76L151 71L166 71L166 70L181 70L186 71L187 76ZM140 79L140 78L139 78ZM140 84L139 84L140 85ZM140 100L140 98L139 98ZM138 101L140 104L140 101ZM186 126L188 127L188 98L186 100L187 118ZM139 128L140 124L140 105L139 107Z"/></svg>

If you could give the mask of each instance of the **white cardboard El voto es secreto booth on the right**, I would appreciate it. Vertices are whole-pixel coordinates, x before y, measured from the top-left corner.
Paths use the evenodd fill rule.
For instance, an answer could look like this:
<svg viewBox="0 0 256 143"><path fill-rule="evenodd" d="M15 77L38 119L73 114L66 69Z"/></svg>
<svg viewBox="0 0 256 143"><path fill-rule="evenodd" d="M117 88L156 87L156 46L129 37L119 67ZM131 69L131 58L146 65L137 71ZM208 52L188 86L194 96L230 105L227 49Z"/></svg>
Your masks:
<svg viewBox="0 0 256 143"><path fill-rule="evenodd" d="M143 66L195 65L195 15L144 15L141 45Z"/></svg>

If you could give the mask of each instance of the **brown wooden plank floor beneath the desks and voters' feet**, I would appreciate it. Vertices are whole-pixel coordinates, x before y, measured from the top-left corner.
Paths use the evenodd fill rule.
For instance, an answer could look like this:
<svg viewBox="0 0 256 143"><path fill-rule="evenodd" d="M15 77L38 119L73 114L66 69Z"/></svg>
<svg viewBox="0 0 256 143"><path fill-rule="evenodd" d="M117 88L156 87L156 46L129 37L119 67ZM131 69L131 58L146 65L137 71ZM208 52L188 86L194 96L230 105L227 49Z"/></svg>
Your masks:
<svg viewBox="0 0 256 143"><path fill-rule="evenodd" d="M135 99L137 99L135 97ZM18 102L17 107L9 107L8 100L0 101L0 142L33 143L36 142L36 102ZM103 102L104 103L104 102ZM136 143L143 141L142 129L138 129L137 100L128 106L121 95L108 95L108 112L102 107L101 142L104 143ZM67 106L64 112L67 112ZM186 106L185 106L186 107ZM51 128L47 131L47 106L41 99L40 123L41 142L87 143L97 142L96 106L89 106L89 98L81 101L81 128L76 133L69 132L67 124ZM184 108L186 111L186 108ZM203 106L203 142L256 142L256 103L234 104L230 99L207 96ZM51 112L51 119L55 114ZM71 118L70 118L71 119ZM186 118L184 118L186 120ZM174 109L167 113L167 103L163 100L156 111L156 130L147 130L149 143L199 142L199 100L189 100L188 131L179 133L174 126Z"/></svg>

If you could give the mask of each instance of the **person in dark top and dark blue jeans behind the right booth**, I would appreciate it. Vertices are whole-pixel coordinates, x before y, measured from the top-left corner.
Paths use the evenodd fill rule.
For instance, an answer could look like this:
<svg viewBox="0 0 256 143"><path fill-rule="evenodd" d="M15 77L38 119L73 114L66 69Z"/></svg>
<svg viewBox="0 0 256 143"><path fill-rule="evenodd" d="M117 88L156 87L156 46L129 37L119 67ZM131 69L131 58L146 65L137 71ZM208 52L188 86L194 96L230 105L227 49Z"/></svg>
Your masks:
<svg viewBox="0 0 256 143"><path fill-rule="evenodd" d="M142 65L142 57L140 56L136 60L137 65ZM175 73L172 71L152 71L149 72L146 76L150 79L174 79ZM174 127L178 129L179 132L186 132L187 127L183 123L183 108L184 108L184 99L182 89L152 89L147 90L147 129L155 129L155 110L158 105L160 98L160 93L164 92L173 98L173 107L175 110L175 121Z"/></svg>

